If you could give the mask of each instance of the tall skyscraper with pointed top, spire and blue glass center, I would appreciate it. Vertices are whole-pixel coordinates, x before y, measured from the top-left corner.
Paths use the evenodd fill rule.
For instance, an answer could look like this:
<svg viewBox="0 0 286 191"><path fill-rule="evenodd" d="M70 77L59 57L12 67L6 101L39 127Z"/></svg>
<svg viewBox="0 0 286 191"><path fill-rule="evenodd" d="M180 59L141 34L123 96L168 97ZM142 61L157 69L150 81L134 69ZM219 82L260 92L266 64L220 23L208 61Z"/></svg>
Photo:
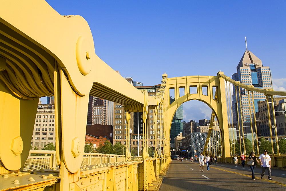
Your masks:
<svg viewBox="0 0 286 191"><path fill-rule="evenodd" d="M245 51L236 69L237 72L232 75L232 79L258 88L272 88L270 68L263 66L262 61L251 51ZM251 93L245 89L233 87L233 123L249 123L243 126L250 126L251 119L254 122L255 112L258 111L257 102L264 100L266 97L263 93L255 91ZM249 132L249 128L245 129Z"/></svg>

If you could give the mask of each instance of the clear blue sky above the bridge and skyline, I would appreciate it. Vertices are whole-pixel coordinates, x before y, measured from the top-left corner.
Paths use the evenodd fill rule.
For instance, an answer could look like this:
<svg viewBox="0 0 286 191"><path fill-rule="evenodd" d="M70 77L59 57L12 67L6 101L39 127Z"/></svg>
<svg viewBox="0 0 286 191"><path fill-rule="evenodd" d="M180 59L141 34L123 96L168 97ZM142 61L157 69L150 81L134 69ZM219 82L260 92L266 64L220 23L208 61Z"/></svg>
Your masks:
<svg viewBox="0 0 286 191"><path fill-rule="evenodd" d="M246 36L248 49L271 68L274 88L286 91L285 1L47 3L61 15L84 17L96 54L144 86L161 83L164 72L176 77L217 75L221 70L231 76L246 50ZM185 104L186 121L205 118L208 107Z"/></svg>

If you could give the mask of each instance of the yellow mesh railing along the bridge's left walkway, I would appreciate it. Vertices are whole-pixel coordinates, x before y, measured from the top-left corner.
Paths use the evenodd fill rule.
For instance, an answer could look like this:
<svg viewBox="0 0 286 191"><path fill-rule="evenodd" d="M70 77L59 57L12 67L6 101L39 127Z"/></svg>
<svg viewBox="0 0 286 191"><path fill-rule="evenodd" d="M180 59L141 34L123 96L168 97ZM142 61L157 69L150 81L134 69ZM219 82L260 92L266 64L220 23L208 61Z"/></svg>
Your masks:
<svg viewBox="0 0 286 191"><path fill-rule="evenodd" d="M32 156L31 154L39 154L40 156ZM142 156L131 156L131 160L142 160ZM124 162L126 158L124 155L116 154L102 154L102 153L84 153L82 165L85 164L103 164ZM49 150L30 150L30 154L21 168L23 171L39 170L41 168L58 168L55 151Z"/></svg>

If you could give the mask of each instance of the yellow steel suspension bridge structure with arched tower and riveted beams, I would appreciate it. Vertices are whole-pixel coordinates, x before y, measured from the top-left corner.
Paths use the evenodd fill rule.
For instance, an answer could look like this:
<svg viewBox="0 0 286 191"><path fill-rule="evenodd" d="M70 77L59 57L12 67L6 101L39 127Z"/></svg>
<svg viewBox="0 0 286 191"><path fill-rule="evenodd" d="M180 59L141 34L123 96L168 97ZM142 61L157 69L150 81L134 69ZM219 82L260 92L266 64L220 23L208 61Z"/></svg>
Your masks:
<svg viewBox="0 0 286 191"><path fill-rule="evenodd" d="M0 189L149 190L170 164L168 137L172 118L177 108L189 100L200 100L212 109L212 120L217 119L221 132L220 160L228 162L231 148L227 83L264 93L269 99L273 95L286 96L286 92L239 83L220 71L215 76L168 78L163 74L159 92L149 97L95 54L92 33L81 16L59 15L45 1L1 1ZM195 87L197 93L190 93L190 87ZM179 95L182 88L180 92L184 93ZM208 93L203 94L202 88ZM171 104L170 89L175 92ZM124 104L127 124L131 112L143 112L142 157L131 156L130 136L124 156L84 153L89 95ZM55 96L56 151L48 153L50 165L45 167L50 168L33 171L32 167L40 166L41 160L29 157L26 161L38 101L43 96ZM148 156L147 149L148 109L154 109L156 114L158 109L164 111L163 120L154 125L155 132L158 125L164 127L163 136L156 140L163 145L163 152L155 147L154 158ZM209 132L211 128L212 125ZM126 129L128 135L129 128ZM207 145L208 142L205 152Z"/></svg>

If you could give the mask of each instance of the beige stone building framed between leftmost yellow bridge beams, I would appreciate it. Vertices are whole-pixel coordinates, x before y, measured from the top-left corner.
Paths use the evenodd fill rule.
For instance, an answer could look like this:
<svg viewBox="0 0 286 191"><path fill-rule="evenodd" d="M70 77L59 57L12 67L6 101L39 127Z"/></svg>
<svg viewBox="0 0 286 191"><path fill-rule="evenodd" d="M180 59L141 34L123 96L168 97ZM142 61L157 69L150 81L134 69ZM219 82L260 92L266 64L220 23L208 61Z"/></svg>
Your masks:
<svg viewBox="0 0 286 191"><path fill-rule="evenodd" d="M49 143L55 144L55 105L39 101L31 146L42 149Z"/></svg>

